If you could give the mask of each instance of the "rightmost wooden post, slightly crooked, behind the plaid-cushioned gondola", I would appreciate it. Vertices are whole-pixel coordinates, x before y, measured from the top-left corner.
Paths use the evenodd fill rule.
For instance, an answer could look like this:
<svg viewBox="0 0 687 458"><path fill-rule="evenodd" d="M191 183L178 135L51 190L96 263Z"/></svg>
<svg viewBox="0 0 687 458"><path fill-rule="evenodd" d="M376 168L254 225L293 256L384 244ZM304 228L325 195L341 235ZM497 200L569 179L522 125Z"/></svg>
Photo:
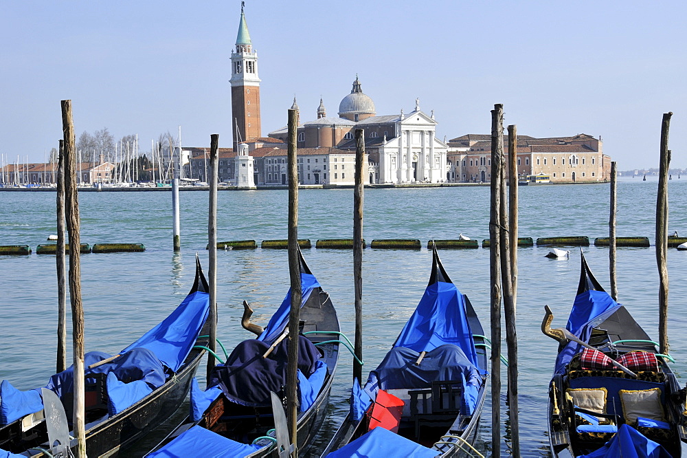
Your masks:
<svg viewBox="0 0 687 458"><path fill-rule="evenodd" d="M661 164L658 175L656 199L656 263L660 286L658 290L658 342L660 352L668 354L668 169L671 167L671 151L668 149L668 130L673 112L663 114L661 124Z"/></svg>

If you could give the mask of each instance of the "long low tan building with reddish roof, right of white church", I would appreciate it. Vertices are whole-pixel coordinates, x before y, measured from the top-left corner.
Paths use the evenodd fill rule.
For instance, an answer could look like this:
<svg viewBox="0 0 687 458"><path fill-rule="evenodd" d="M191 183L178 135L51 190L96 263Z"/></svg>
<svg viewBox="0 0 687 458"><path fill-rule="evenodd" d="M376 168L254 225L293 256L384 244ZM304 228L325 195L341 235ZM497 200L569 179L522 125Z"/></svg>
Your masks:
<svg viewBox="0 0 687 458"><path fill-rule="evenodd" d="M462 135L449 140L448 146L449 181L491 181L491 135ZM504 149L507 157L507 144ZM601 138L585 133L552 138L518 135L517 169L521 178L542 174L552 183L605 182L611 157L603 153Z"/></svg>

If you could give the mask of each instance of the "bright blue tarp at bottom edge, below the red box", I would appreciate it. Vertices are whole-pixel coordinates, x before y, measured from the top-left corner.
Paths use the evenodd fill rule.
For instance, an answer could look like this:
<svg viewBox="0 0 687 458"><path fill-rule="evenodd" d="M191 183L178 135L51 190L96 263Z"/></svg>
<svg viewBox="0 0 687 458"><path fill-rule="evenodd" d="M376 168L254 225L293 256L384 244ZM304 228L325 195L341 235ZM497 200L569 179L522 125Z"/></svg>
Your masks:
<svg viewBox="0 0 687 458"><path fill-rule="evenodd" d="M350 444L327 455L327 458L429 458L440 455L438 450L377 426Z"/></svg>

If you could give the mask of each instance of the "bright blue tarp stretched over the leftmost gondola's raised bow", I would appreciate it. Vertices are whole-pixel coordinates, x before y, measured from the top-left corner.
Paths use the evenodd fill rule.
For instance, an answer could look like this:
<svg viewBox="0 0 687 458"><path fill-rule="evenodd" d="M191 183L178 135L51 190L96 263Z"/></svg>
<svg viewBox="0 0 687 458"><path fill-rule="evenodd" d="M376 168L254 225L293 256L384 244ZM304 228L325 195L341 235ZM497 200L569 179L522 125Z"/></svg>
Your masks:
<svg viewBox="0 0 687 458"><path fill-rule="evenodd" d="M167 318L120 353L134 348L147 348L167 367L176 372L196 343L207 314L210 295L192 292Z"/></svg>

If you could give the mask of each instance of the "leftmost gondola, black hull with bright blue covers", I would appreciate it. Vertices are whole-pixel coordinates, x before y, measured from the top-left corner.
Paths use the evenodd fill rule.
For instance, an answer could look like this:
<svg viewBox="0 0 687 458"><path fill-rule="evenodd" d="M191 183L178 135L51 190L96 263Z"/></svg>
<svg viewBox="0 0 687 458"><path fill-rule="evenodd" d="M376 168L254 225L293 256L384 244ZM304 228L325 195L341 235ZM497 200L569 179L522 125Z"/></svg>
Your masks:
<svg viewBox="0 0 687 458"><path fill-rule="evenodd" d="M89 457L117 456L177 411L205 354L203 347L207 347L208 334L205 322L209 310L207 281L196 256L193 286L165 320L114 357L101 351L86 353L85 420ZM71 367L52 376L47 389L56 394L59 402L58 405L45 402L45 408L41 389L22 392L3 380L0 456L1 450L26 457L67 456L58 455L48 446L49 439L54 445L56 426L65 434L58 438L60 443L76 450L76 439L69 439L69 434L74 435L69 433L73 379Z"/></svg>

